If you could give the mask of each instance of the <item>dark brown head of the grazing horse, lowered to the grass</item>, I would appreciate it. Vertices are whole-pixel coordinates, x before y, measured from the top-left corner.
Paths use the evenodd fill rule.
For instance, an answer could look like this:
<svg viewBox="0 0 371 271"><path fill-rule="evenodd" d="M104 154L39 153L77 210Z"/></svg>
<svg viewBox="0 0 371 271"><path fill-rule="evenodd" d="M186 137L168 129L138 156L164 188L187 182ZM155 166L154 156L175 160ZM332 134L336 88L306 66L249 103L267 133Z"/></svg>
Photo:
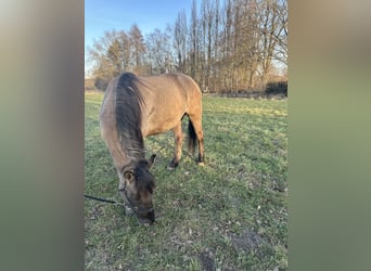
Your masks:
<svg viewBox="0 0 371 271"><path fill-rule="evenodd" d="M155 179L150 172L155 155L149 160L139 160L125 166L119 172L118 190L126 205L132 209L142 224L152 224L155 214L152 195Z"/></svg>

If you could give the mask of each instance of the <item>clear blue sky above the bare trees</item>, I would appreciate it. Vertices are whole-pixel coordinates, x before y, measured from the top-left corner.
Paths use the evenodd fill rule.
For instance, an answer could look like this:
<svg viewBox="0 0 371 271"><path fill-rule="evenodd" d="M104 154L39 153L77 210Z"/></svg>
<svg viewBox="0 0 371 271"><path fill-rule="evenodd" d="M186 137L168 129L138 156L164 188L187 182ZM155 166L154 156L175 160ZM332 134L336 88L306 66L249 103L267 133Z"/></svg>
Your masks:
<svg viewBox="0 0 371 271"><path fill-rule="evenodd" d="M86 0L85 1L85 51L105 30L129 30L137 24L142 34L155 28L164 30L174 24L178 13L184 10L187 20L193 0ZM197 2L201 2L200 0ZM86 62L86 70L89 68Z"/></svg>

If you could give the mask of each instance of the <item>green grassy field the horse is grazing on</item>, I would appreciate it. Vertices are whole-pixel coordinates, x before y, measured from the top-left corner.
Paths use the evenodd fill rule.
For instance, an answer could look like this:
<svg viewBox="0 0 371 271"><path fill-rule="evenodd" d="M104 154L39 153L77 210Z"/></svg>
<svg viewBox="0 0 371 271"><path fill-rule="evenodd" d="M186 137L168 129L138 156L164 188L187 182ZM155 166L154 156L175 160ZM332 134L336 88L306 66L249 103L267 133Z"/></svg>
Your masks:
<svg viewBox="0 0 371 271"><path fill-rule="evenodd" d="M102 99L86 93L86 193L118 201L99 130ZM156 223L140 225L119 206L86 199L86 270L287 269L287 101L203 99L206 166L184 144L169 171L172 133L145 139L148 157L157 154Z"/></svg>

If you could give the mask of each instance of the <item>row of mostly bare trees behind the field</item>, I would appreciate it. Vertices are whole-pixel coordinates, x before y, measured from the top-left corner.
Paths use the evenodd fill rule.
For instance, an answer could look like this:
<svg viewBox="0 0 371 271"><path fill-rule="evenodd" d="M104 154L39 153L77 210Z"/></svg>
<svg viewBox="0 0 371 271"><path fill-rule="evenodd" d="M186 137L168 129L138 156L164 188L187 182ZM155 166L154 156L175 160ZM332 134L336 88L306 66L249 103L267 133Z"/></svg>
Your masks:
<svg viewBox="0 0 371 271"><path fill-rule="evenodd" d="M88 49L95 87L105 89L123 72L180 72L203 91L240 92L285 76L286 0L201 0L197 7L193 0L189 18L180 11L174 24L145 37L138 25L105 31Z"/></svg>

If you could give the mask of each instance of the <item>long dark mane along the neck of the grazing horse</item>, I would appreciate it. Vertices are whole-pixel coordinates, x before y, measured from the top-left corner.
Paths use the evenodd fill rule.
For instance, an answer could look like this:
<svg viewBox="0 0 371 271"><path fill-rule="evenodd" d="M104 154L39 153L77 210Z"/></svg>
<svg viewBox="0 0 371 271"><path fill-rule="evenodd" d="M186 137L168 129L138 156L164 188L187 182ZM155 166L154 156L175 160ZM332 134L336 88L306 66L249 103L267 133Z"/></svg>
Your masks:
<svg viewBox="0 0 371 271"><path fill-rule="evenodd" d="M116 87L116 127L120 144L130 160L144 159L144 142L141 132L144 99L138 89L138 77L125 73Z"/></svg>

